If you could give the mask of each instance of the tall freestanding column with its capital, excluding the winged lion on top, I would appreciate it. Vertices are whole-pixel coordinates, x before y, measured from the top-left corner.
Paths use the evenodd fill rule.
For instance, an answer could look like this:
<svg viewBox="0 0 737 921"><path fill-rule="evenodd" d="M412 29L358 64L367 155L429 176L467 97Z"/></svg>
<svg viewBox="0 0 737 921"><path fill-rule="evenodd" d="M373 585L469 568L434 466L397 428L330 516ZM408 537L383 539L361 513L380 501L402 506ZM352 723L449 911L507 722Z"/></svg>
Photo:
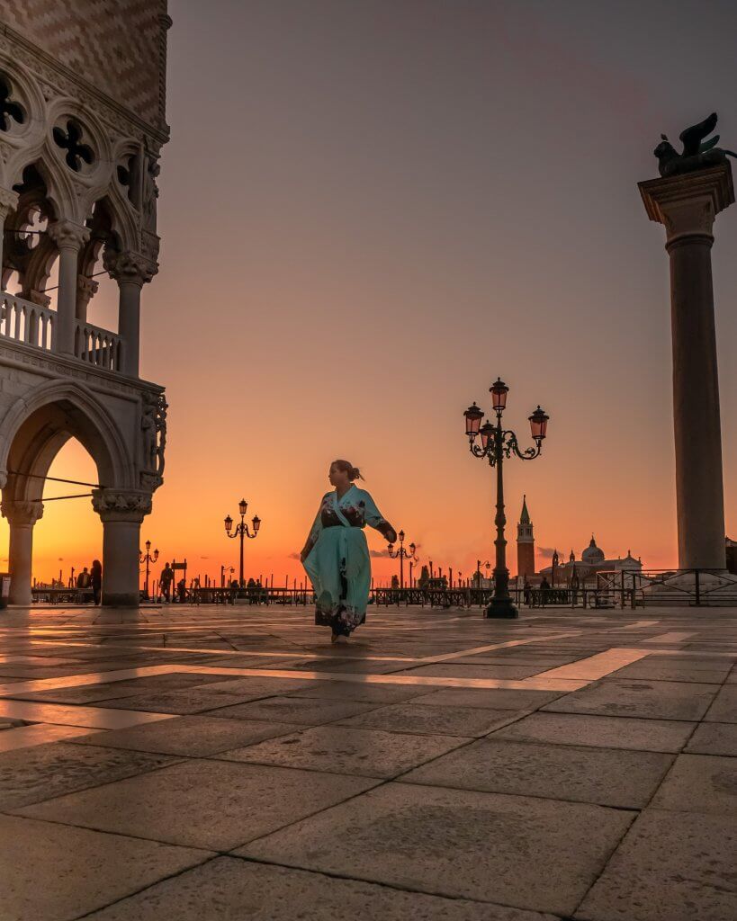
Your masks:
<svg viewBox="0 0 737 921"><path fill-rule="evenodd" d="M734 202L729 164L639 183L671 260L678 565L724 569L724 494L711 245Z"/></svg>

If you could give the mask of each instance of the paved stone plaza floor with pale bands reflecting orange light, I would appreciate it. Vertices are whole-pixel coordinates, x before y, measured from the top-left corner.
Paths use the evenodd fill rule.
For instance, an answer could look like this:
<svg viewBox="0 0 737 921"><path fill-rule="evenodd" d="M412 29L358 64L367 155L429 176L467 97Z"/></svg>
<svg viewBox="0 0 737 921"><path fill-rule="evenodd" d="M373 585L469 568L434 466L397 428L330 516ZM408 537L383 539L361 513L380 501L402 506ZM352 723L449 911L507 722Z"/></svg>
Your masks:
<svg viewBox="0 0 737 921"><path fill-rule="evenodd" d="M0 614L2 921L733 921L737 612Z"/></svg>

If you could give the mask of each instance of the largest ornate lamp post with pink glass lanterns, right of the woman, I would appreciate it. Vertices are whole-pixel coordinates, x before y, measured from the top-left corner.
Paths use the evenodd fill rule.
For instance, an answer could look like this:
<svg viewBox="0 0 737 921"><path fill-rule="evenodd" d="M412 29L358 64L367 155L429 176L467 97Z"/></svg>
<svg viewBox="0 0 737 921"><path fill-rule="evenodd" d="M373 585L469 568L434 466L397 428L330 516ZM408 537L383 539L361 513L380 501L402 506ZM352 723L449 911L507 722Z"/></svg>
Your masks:
<svg viewBox="0 0 737 921"><path fill-rule="evenodd" d="M521 461L532 461L540 455L543 439L547 434L549 416L544 411L537 409L529 417L534 448L522 450L518 444L517 436L509 429L502 428L501 417L507 406L509 387L500 378L489 388L492 396L492 408L497 414L497 424L486 421L481 425L484 412L474 403L463 414L466 419L466 435L468 447L474 457L485 458L489 466L497 468L497 515L494 523L497 526L497 539L494 542L497 548L496 565L494 567L494 595L485 610L485 617L517 617L517 608L512 604L509 596L509 569L507 568L507 541L504 537L504 526L507 519L504 515L504 480L502 476L504 458L515 454ZM476 438L481 438L481 445L476 443Z"/></svg>

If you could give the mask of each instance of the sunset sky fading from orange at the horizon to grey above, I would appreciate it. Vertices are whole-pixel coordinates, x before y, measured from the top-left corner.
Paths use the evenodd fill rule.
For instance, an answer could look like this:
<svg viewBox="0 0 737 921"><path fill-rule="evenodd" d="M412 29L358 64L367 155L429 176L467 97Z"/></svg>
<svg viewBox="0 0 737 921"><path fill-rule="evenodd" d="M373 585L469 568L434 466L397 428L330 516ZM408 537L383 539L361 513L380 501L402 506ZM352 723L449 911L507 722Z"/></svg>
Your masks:
<svg viewBox="0 0 737 921"><path fill-rule="evenodd" d="M263 519L247 575L300 578L290 554L344 457L423 562L468 574L493 553L494 496L462 411L501 375L523 442L538 402L551 416L544 456L506 468L512 571L522 493L548 558L593 531L607 555L674 565L668 265L637 182L657 175L661 132L712 110L737 147L734 4L174 0L170 14L142 344L170 429L142 542L193 575L237 565L222 519L242 494ZM735 247L737 207L713 251L731 533ZM111 326L110 282L96 301L90 319ZM76 445L53 473L95 475ZM47 505L38 577L100 550L87 500Z"/></svg>

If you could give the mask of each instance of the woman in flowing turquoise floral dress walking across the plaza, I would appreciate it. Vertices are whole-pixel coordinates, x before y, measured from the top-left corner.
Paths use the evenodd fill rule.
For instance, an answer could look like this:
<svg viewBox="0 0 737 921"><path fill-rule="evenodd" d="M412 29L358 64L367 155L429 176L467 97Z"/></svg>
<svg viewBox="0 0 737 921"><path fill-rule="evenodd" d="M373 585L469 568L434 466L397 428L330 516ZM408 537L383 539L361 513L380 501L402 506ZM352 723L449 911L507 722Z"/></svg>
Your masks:
<svg viewBox="0 0 737 921"><path fill-rule="evenodd" d="M315 624L332 628L333 643L366 620L371 561L363 529L368 524L387 541L397 539L369 493L357 487L360 478L358 468L348 461L333 461L328 479L334 489L322 496L299 555L317 596Z"/></svg>

